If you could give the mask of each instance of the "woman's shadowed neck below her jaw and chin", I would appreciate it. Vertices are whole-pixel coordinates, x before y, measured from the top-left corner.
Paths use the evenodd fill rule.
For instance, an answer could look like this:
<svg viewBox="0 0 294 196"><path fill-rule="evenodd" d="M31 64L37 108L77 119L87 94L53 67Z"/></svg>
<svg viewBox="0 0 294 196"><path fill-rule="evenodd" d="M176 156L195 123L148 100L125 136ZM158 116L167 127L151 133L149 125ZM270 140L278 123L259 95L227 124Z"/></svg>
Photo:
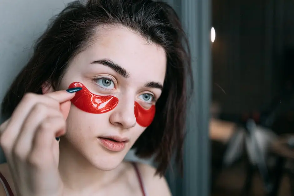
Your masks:
<svg viewBox="0 0 294 196"><path fill-rule="evenodd" d="M91 194L105 187L118 177L123 164L110 171L95 168L66 139L59 143L59 173L65 189L74 193Z"/></svg>

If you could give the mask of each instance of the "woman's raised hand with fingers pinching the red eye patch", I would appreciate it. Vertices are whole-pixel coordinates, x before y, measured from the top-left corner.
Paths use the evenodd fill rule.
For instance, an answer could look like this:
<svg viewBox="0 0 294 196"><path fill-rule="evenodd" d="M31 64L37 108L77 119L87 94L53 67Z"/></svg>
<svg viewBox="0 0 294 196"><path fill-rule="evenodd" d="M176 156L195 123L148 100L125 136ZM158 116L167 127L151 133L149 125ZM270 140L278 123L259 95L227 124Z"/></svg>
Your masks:
<svg viewBox="0 0 294 196"><path fill-rule="evenodd" d="M3 148L17 196L60 196L59 146L70 99L75 93L26 94L11 118L0 126Z"/></svg>

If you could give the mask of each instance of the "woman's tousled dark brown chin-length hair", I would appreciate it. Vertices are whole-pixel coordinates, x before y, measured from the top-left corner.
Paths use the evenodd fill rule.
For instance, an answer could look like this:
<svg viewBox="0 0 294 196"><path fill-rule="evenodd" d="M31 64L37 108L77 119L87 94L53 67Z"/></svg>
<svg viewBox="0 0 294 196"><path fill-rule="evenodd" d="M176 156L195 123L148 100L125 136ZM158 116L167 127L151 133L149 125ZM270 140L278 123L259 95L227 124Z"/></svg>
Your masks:
<svg viewBox="0 0 294 196"><path fill-rule="evenodd" d="M187 82L192 81L190 52L180 20L167 3L152 0L89 0L68 6L53 19L38 39L33 57L18 74L2 103L9 117L23 95L42 93L48 81L53 88L63 77L68 62L90 44L100 25L122 25L165 49L167 69L164 88L156 103L153 123L133 148L142 158L155 155L157 173L163 175L173 153L182 168L185 136Z"/></svg>

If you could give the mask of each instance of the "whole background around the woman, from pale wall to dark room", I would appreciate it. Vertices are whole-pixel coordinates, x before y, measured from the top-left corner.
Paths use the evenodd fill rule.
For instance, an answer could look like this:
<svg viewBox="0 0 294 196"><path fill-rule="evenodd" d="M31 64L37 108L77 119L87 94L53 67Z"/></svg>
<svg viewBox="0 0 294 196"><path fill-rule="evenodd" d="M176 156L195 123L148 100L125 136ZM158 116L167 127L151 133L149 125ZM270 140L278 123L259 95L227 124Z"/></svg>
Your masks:
<svg viewBox="0 0 294 196"><path fill-rule="evenodd" d="M0 2L0 99L68 2ZM173 195L294 195L294 1L166 2L187 32L195 88L183 176L173 163L166 174Z"/></svg>

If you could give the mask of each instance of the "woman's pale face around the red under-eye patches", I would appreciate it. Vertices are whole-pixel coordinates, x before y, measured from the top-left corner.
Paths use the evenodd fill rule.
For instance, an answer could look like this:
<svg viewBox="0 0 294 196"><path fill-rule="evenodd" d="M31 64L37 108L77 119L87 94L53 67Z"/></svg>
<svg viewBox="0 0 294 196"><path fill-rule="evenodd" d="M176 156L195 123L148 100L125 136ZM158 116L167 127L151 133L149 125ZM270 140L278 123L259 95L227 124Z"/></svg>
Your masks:
<svg viewBox="0 0 294 196"><path fill-rule="evenodd" d="M72 104L63 139L97 168L115 168L146 129L136 122L135 101L145 109L155 104L165 70L162 47L148 43L128 28L99 28L97 38L71 61L60 88L80 82L91 93L111 95L119 102L111 111L100 114L84 112ZM109 136L127 139L124 148L114 151L105 146L101 138Z"/></svg>

